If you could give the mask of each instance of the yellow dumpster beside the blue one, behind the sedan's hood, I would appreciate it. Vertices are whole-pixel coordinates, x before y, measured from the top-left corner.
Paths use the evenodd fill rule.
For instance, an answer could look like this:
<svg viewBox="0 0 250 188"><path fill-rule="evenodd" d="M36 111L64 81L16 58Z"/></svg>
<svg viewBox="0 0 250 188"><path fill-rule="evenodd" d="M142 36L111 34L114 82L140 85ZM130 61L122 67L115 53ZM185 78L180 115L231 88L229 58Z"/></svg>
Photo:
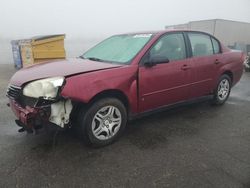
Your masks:
<svg viewBox="0 0 250 188"><path fill-rule="evenodd" d="M22 67L50 59L64 59L65 35L47 35L22 40L20 45Z"/></svg>

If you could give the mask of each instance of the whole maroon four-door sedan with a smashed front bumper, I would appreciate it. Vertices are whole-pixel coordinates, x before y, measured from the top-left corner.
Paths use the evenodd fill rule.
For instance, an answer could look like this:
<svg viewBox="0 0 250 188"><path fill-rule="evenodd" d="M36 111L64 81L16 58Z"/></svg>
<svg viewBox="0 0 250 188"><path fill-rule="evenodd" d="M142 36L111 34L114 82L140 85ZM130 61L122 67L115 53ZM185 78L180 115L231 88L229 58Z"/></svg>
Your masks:
<svg viewBox="0 0 250 188"><path fill-rule="evenodd" d="M20 131L75 126L88 143L103 146L128 119L204 98L223 104L244 57L204 32L115 35L77 59L19 70L7 96Z"/></svg>

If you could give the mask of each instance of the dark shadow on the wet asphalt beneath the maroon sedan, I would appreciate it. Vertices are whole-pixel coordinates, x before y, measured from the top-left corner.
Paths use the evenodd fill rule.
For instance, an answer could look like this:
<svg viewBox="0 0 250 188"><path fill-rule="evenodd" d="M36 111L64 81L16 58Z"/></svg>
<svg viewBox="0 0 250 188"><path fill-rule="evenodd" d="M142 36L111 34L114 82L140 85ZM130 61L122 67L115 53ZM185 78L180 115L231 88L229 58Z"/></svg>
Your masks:
<svg viewBox="0 0 250 188"><path fill-rule="evenodd" d="M98 150L107 150L107 148L124 144L139 149L154 149L166 144L171 137L198 134L202 126L200 124L197 126L197 122L215 117L218 110L219 108L211 107L209 102L200 102L136 119L128 122L123 136L117 142L108 147L98 148ZM41 152L63 151L64 149L71 151L96 150L86 146L81 136L74 129L44 134L42 140L44 142L39 141L39 144L32 147L32 150Z"/></svg>

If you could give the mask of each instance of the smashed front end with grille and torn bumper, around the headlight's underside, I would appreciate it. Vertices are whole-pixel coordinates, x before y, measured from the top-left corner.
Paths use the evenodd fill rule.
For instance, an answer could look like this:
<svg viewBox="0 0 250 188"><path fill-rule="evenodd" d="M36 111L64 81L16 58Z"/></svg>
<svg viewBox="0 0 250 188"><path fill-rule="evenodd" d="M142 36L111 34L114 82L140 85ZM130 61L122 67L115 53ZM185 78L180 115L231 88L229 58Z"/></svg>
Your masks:
<svg viewBox="0 0 250 188"><path fill-rule="evenodd" d="M47 100L43 97L27 97L22 94L21 87L14 85L9 85L7 97L9 106L18 118L16 123L28 132L34 132L49 124L61 128L69 124L73 109L69 98L58 97L56 100Z"/></svg>

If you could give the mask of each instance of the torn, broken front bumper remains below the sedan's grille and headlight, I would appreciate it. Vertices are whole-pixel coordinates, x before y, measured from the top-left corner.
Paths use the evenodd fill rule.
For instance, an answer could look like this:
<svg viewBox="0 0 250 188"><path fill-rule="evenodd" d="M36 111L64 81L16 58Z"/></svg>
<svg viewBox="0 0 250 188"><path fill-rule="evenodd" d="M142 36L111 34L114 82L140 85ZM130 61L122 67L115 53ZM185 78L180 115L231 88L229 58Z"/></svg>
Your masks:
<svg viewBox="0 0 250 188"><path fill-rule="evenodd" d="M63 99L46 106L23 107L17 101L10 99L8 106L15 113L16 123L22 127L19 132L27 131L36 133L44 125L54 124L57 127L64 128L69 124L72 103L69 99Z"/></svg>

